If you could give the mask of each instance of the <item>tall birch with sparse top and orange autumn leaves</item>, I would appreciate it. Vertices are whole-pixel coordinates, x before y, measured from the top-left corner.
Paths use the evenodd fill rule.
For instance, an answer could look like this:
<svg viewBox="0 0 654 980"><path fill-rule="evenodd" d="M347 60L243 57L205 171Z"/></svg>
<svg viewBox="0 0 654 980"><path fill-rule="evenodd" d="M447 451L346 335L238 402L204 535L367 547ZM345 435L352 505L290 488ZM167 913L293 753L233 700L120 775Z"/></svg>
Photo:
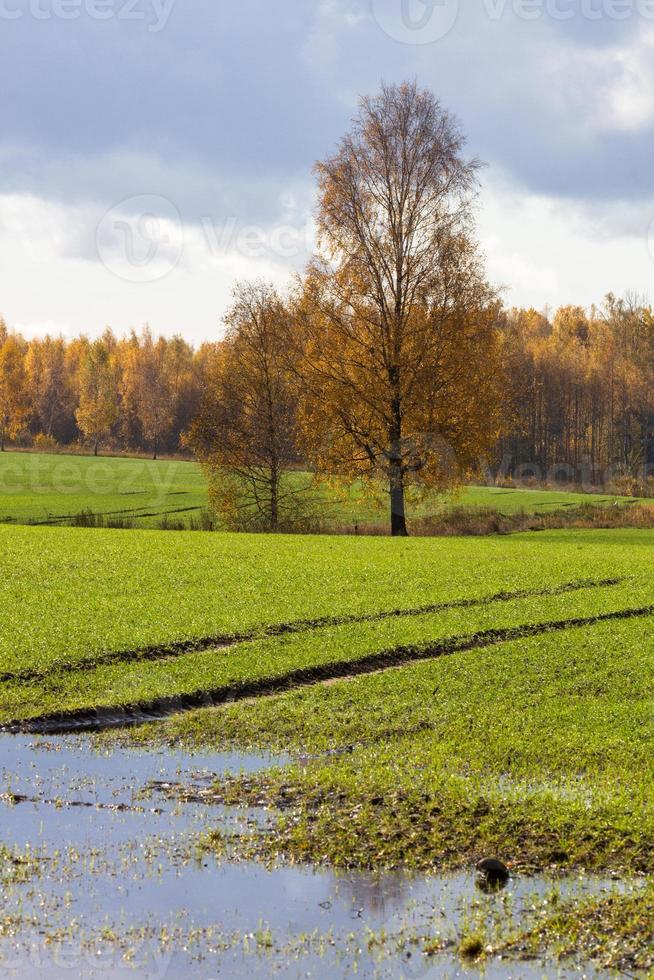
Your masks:
<svg viewBox="0 0 654 980"><path fill-rule="evenodd" d="M446 486L499 432L497 305L474 239L479 165L415 84L363 98L319 163L319 254L298 304L305 444L319 471Z"/></svg>

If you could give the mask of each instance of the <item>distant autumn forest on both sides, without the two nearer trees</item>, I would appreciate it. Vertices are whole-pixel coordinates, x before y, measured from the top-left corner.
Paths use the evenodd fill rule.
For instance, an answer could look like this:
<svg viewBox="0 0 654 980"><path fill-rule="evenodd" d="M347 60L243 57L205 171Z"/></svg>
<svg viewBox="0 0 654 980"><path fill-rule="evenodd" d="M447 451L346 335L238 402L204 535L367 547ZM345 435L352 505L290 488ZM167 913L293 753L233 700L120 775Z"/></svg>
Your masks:
<svg viewBox="0 0 654 980"><path fill-rule="evenodd" d="M497 315L505 421L493 473L605 483L654 471L654 313L634 297ZM221 341L146 328L31 341L0 320L0 437L22 447L175 454Z"/></svg>

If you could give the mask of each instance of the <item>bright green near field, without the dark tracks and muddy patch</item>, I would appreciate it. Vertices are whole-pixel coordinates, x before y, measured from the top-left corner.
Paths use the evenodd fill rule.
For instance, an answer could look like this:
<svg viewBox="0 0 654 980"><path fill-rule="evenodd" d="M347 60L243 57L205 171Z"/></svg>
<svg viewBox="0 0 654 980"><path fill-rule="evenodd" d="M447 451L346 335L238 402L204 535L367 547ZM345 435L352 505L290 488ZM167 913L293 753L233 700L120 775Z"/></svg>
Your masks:
<svg viewBox="0 0 654 980"><path fill-rule="evenodd" d="M383 795L422 772L432 795L450 786L570 816L593 799L616 826L638 812L633 838L649 827L654 758L653 545L633 531L388 541L4 527L0 718L306 679L256 709L210 712L205 737L308 751L372 739L320 778ZM295 631L270 635L283 624ZM402 670L373 672L398 651ZM319 683L358 661L366 675ZM192 717L157 731L179 735ZM398 756L389 732L407 730Z"/></svg>

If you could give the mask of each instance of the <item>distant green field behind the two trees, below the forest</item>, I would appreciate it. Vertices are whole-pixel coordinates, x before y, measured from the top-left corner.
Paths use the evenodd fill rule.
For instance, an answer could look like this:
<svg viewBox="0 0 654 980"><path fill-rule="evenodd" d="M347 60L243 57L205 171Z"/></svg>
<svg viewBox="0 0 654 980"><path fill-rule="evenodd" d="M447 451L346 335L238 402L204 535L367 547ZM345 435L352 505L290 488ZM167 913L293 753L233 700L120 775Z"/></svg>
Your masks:
<svg viewBox="0 0 654 980"><path fill-rule="evenodd" d="M297 473L298 486L308 487L309 474ZM386 501L371 500L354 485L345 491L327 486L308 491L327 525L378 524L387 519ZM409 516L425 517L444 508L493 508L501 514L551 514L592 502L596 505L634 503L634 498L608 494L466 487L455 496L409 498ZM0 523L66 525L80 515L94 514L108 524L136 528L199 522L208 505L206 482L196 463L39 453L0 454Z"/></svg>

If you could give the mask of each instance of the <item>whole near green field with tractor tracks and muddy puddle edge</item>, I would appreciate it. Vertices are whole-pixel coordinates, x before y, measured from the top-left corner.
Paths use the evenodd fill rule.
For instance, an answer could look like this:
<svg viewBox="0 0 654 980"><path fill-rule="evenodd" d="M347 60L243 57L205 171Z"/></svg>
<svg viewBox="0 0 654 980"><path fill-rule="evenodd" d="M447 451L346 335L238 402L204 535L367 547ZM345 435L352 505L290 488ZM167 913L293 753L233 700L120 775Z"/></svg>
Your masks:
<svg viewBox="0 0 654 980"><path fill-rule="evenodd" d="M519 506L519 492L467 497L494 493ZM558 506L547 496L526 506ZM0 724L51 731L128 709L167 717L103 738L296 758L213 787L212 801L276 815L274 834L232 841L242 857L430 871L495 854L514 873L654 874L654 531L4 524L0 573ZM222 853L211 827L204 846ZM613 924L620 949L642 945L643 895L521 941L559 928L574 943L602 916L598 956Z"/></svg>

